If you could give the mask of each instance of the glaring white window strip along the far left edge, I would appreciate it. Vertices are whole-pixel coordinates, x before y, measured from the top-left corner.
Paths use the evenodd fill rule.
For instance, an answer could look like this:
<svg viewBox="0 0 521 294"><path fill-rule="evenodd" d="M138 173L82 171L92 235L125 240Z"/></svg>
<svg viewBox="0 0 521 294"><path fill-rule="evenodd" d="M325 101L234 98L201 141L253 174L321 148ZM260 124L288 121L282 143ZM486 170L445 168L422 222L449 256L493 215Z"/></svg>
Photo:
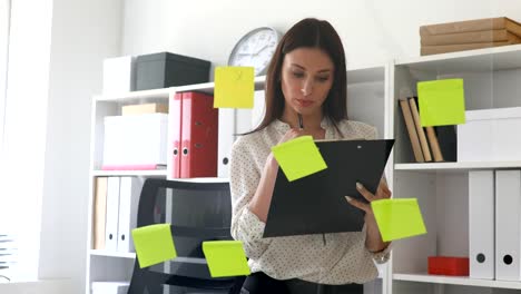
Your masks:
<svg viewBox="0 0 521 294"><path fill-rule="evenodd" d="M38 272L51 17L51 0L12 1L0 223L18 234L19 280Z"/></svg>

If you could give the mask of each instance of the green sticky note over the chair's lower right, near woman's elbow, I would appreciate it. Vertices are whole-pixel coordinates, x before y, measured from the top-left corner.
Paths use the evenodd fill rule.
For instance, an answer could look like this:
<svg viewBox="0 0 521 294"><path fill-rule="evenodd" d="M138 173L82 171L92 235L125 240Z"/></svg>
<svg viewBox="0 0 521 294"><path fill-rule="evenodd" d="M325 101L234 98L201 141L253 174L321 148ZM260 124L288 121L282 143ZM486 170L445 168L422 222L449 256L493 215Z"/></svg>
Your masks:
<svg viewBox="0 0 521 294"><path fill-rule="evenodd" d="M240 241L203 242L203 253L212 277L249 275L248 262Z"/></svg>

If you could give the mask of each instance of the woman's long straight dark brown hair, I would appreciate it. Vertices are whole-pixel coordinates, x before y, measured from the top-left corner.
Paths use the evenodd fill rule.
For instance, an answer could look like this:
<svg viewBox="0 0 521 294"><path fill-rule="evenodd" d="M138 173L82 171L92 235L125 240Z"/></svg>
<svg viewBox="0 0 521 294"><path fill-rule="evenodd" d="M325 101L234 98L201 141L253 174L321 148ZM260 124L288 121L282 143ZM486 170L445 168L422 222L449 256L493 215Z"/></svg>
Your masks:
<svg viewBox="0 0 521 294"><path fill-rule="evenodd" d="M322 106L322 111L337 130L337 122L342 119L347 119L347 75L344 47L341 38L330 22L315 18L306 18L295 23L283 36L275 49L266 74L266 112L258 127L250 133L262 130L273 120L282 117L285 104L281 86L282 65L286 53L301 47L322 49L332 59L335 66L334 80L327 98Z"/></svg>

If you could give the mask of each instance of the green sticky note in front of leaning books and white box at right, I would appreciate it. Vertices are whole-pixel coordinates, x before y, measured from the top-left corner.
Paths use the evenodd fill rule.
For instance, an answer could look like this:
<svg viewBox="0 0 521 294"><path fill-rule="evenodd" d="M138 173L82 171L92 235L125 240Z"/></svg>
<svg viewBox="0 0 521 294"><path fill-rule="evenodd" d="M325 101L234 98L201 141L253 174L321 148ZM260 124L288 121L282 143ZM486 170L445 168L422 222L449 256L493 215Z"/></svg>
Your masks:
<svg viewBox="0 0 521 294"><path fill-rule="evenodd" d="M420 81L417 100L423 127L465 124L463 79Z"/></svg>

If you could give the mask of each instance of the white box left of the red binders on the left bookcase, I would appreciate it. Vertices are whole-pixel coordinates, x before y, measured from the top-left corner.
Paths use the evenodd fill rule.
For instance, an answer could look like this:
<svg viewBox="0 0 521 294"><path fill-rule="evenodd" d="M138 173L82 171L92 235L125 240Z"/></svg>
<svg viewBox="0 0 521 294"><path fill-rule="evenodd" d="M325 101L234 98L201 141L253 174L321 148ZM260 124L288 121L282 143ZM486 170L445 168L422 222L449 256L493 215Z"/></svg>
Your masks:
<svg viewBox="0 0 521 294"><path fill-rule="evenodd" d="M157 169L167 164L168 115L105 117L104 170Z"/></svg>

